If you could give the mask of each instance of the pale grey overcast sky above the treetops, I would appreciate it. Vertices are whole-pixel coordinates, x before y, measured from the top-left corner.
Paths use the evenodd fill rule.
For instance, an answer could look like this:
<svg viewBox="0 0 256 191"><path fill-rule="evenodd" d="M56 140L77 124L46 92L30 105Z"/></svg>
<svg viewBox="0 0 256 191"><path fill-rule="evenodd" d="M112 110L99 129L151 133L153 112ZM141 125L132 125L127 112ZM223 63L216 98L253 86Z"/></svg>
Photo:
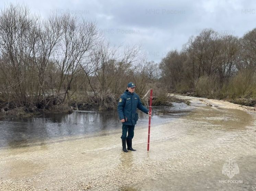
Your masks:
<svg viewBox="0 0 256 191"><path fill-rule="evenodd" d="M70 11L91 19L111 44L141 43L155 62L204 28L242 37L256 27L255 0L1 0L1 9L10 2L43 17Z"/></svg>

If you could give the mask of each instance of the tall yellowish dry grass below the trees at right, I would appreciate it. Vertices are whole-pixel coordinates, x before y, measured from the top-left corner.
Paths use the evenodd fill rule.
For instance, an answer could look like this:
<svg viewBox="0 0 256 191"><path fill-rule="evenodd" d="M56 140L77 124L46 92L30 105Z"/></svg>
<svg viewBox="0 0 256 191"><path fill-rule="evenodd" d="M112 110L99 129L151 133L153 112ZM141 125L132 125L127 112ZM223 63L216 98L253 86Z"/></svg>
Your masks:
<svg viewBox="0 0 256 191"><path fill-rule="evenodd" d="M222 99L250 107L256 105L256 74L248 70L231 77L223 85L214 77L204 76L190 90L179 87L176 92L188 96Z"/></svg>

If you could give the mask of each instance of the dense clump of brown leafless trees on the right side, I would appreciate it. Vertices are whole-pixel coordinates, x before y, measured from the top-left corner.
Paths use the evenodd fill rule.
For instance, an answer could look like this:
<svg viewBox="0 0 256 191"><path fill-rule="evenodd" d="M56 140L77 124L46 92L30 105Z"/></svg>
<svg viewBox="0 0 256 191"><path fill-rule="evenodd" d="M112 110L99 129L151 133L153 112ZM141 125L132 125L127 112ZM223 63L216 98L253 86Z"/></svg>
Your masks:
<svg viewBox="0 0 256 191"><path fill-rule="evenodd" d="M256 98L256 28L242 38L212 29L191 37L160 63L162 79L175 92L212 98Z"/></svg>

